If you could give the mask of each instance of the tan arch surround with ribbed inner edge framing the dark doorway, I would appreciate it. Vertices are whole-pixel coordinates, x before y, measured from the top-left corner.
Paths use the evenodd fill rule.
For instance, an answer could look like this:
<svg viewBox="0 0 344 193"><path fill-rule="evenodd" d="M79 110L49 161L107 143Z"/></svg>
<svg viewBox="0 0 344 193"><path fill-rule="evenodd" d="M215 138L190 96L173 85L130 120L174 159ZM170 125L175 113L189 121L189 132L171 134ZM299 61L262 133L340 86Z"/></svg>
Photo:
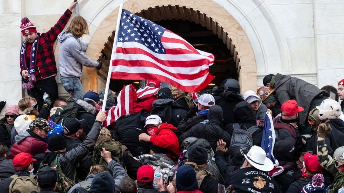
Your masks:
<svg viewBox="0 0 344 193"><path fill-rule="evenodd" d="M213 31L214 34L222 39L234 56L242 90L256 89L257 67L255 56L249 39L233 16L211 0L200 0L192 3L183 1L174 5L157 5L165 2L160 1L140 2L138 0L129 0L124 4L123 8L133 13L136 12L139 16L151 21L182 19L207 27L208 30ZM90 39L89 48L86 52L86 55L90 58L98 59L94 53L99 53L101 49L105 49L107 52L112 50L113 30L116 26L117 14L118 7L99 24ZM106 43L104 44L104 42ZM91 53L93 55L90 55ZM104 73L107 72L105 68L108 68L108 65L109 61L106 61L104 69L101 69L98 73L95 69L85 68L83 74L85 90L100 90L105 87Z"/></svg>

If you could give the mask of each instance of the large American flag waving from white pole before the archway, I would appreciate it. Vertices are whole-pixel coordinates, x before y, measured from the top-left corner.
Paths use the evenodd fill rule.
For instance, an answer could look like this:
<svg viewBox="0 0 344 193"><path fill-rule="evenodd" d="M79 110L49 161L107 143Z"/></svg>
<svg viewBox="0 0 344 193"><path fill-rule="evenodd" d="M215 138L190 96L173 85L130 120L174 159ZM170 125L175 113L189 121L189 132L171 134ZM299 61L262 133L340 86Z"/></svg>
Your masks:
<svg viewBox="0 0 344 193"><path fill-rule="evenodd" d="M111 78L159 80L185 92L200 91L214 79L209 73L213 54L195 49L179 35L125 9L115 45Z"/></svg>

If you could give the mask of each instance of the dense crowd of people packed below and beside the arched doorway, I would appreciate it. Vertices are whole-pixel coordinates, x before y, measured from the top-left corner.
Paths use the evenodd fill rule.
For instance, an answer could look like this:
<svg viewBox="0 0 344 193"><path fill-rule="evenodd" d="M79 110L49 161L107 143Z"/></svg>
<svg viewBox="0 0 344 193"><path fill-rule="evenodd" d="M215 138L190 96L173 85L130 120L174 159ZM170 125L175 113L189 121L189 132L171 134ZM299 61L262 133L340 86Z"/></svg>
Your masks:
<svg viewBox="0 0 344 193"><path fill-rule="evenodd" d="M84 54L82 16L63 30L75 4L45 33L21 21L29 97L0 102L0 192L344 192L344 79L337 89L277 73L257 91L229 78L198 93L155 80L84 93L83 66L102 62ZM56 39L73 103L58 98Z"/></svg>

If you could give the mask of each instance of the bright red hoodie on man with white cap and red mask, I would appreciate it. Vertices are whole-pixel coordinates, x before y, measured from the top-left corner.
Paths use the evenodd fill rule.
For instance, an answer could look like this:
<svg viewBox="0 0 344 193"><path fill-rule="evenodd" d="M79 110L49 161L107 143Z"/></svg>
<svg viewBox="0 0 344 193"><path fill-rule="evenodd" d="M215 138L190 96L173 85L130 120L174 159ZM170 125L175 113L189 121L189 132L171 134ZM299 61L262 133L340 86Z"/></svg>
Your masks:
<svg viewBox="0 0 344 193"><path fill-rule="evenodd" d="M172 129L177 128L168 123L161 124L158 134L152 136L149 141L155 146L173 152L178 157L180 154L178 137L173 133Z"/></svg>

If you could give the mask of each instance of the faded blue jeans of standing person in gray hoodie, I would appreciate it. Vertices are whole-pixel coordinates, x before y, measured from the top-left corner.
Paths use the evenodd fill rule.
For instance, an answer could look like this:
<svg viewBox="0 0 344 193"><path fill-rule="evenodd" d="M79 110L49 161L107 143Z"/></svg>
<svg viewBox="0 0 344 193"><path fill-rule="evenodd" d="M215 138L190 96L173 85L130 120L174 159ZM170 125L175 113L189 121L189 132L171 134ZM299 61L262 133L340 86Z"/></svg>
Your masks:
<svg viewBox="0 0 344 193"><path fill-rule="evenodd" d="M84 87L81 84L80 78L69 78L60 75L60 80L62 82L63 87L71 95L74 101L77 101L78 99L83 99Z"/></svg>

